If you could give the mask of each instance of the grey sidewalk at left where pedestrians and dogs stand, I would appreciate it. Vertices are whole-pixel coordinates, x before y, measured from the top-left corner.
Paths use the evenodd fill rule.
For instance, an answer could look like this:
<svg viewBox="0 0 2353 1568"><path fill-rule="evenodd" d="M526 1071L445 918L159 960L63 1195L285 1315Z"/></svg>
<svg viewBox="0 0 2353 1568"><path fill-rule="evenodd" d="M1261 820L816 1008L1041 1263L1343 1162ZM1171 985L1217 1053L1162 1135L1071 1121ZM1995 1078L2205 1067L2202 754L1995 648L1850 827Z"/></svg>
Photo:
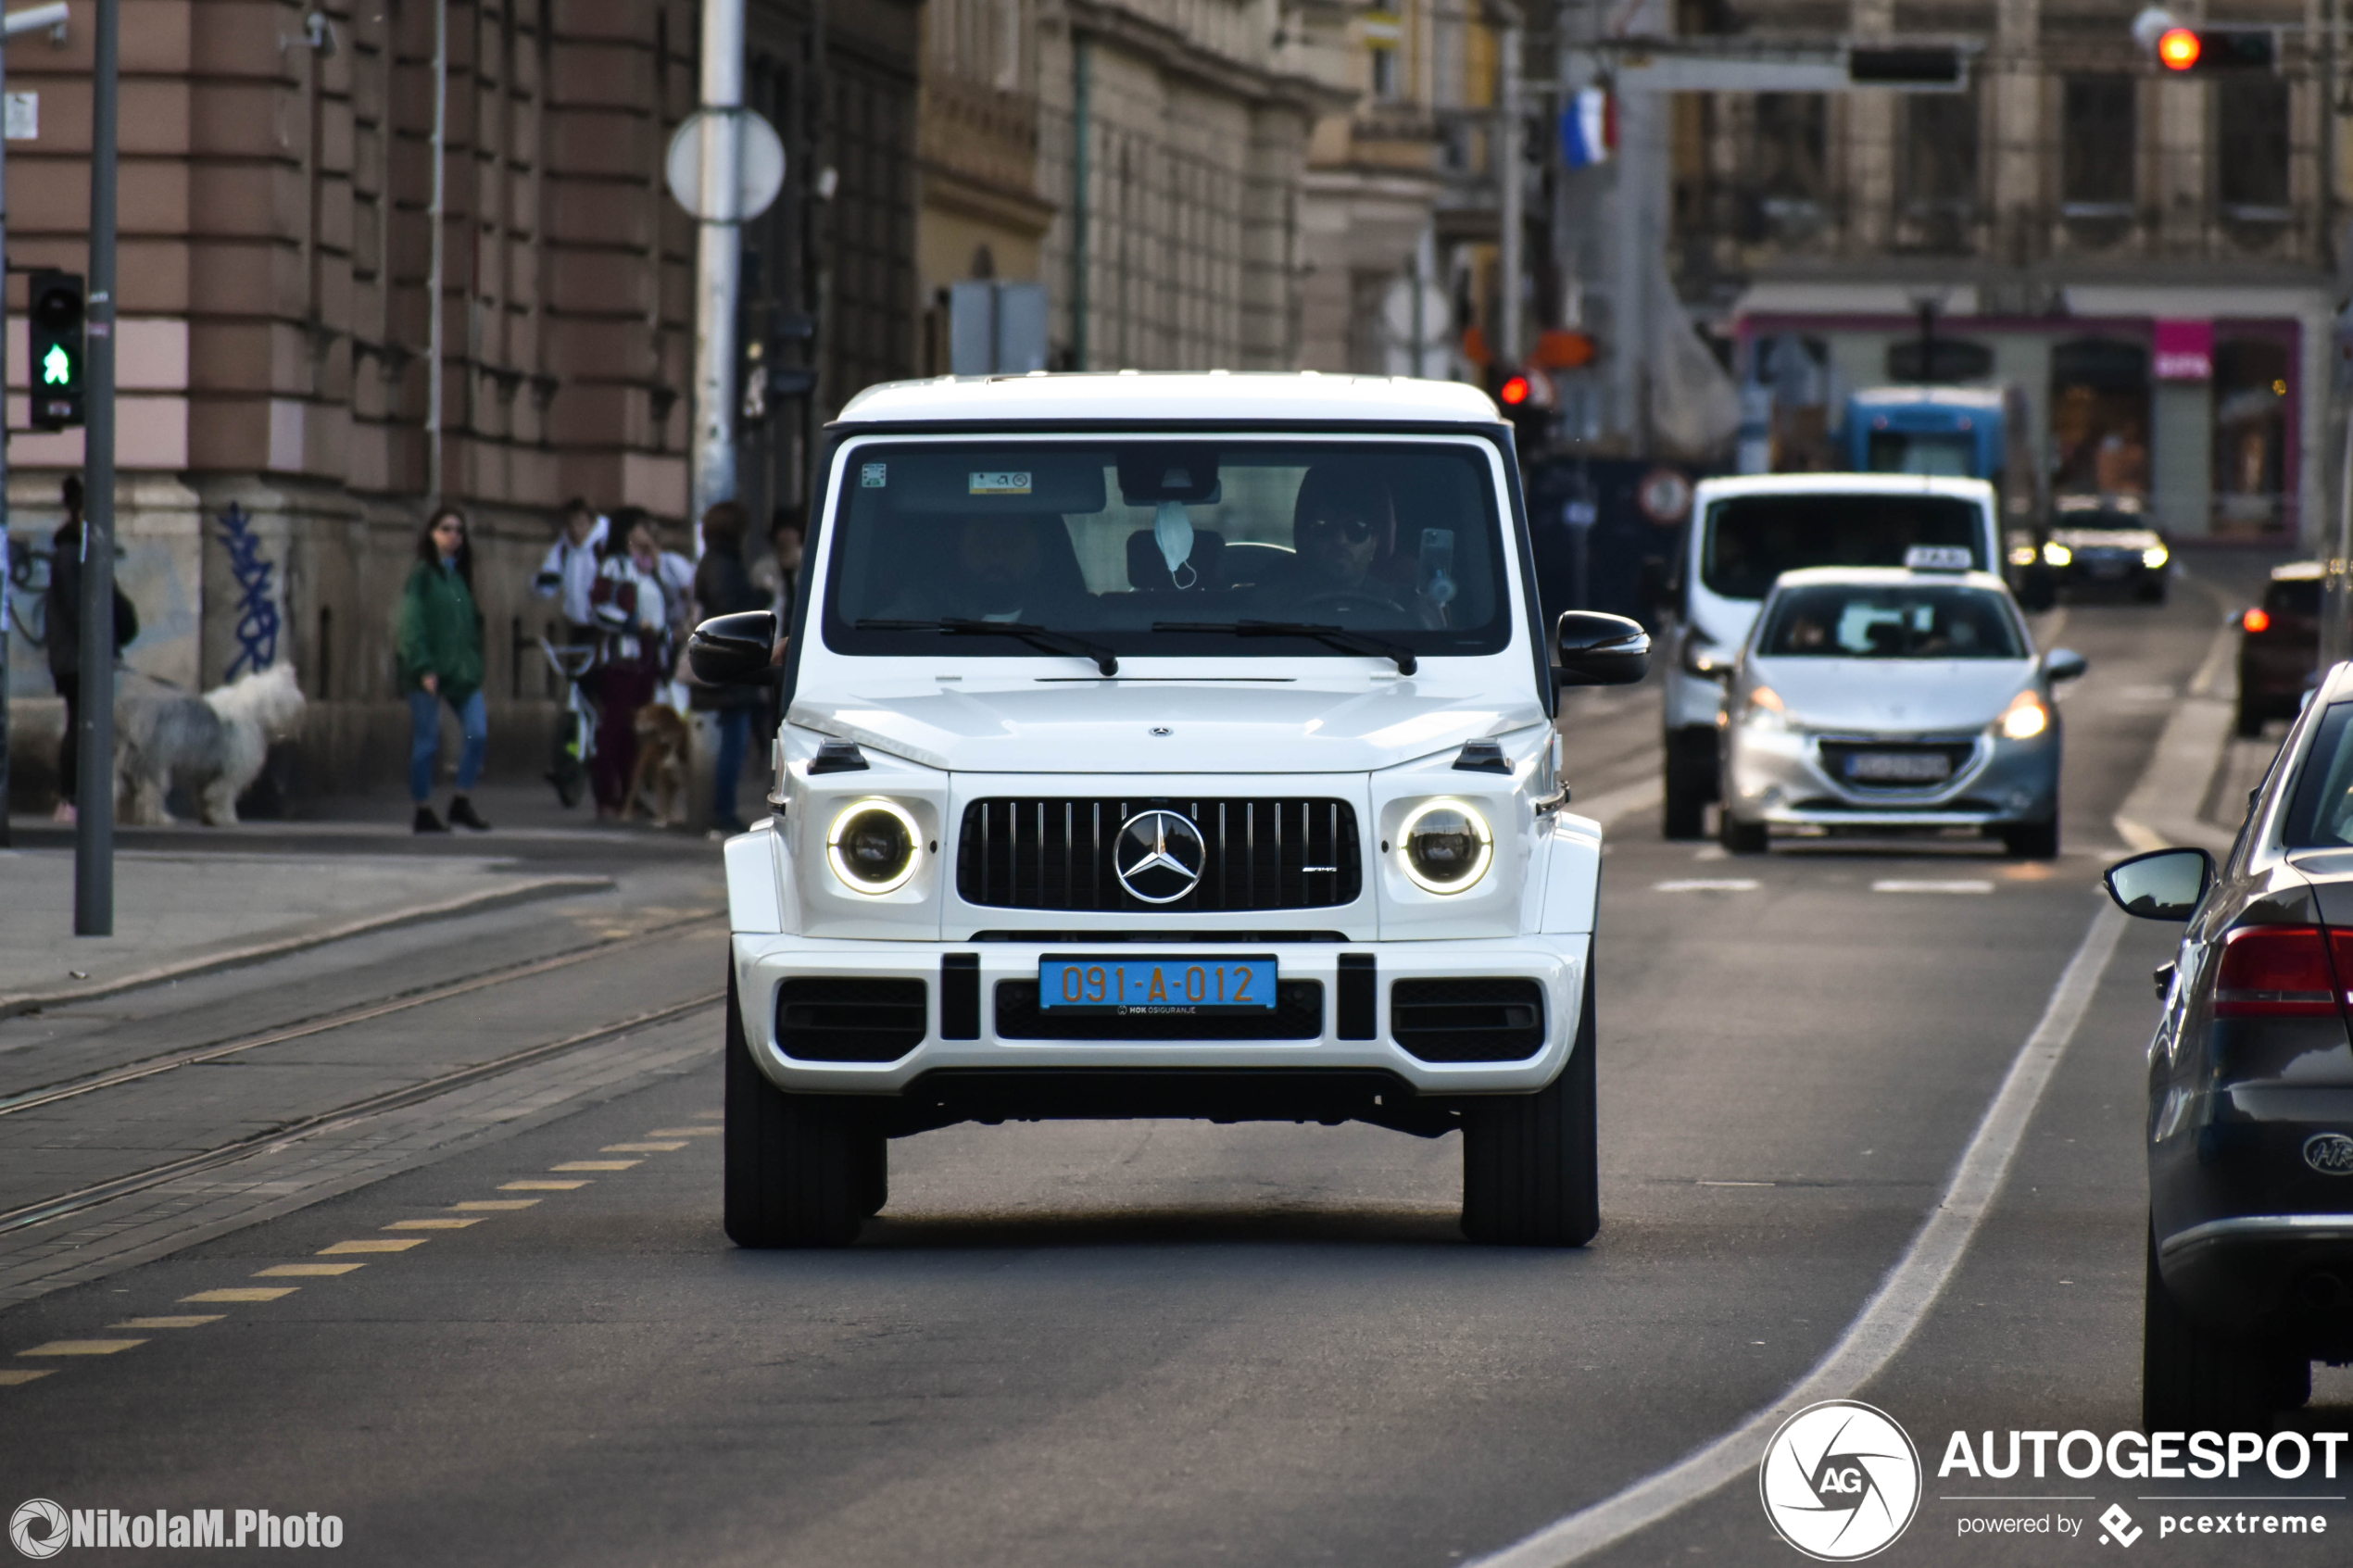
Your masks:
<svg viewBox="0 0 2353 1568"><path fill-rule="evenodd" d="M242 830L198 832L209 842L115 851L115 933L104 938L73 936L71 846L0 851L0 1018L362 931L614 886L607 875L546 875L482 853L240 853ZM468 846L489 849L487 839Z"/></svg>

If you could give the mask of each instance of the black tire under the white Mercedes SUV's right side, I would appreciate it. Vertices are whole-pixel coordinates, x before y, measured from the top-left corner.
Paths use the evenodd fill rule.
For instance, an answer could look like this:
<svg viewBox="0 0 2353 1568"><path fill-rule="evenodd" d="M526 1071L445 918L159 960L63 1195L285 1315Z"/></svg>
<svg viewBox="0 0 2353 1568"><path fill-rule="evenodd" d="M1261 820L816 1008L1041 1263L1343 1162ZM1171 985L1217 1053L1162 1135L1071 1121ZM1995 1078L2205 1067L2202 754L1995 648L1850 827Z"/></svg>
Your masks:
<svg viewBox="0 0 2353 1568"><path fill-rule="evenodd" d="M1485 1246L1584 1246L1602 1227L1593 961L1569 1060L1532 1095L1464 1110L1464 1234Z"/></svg>

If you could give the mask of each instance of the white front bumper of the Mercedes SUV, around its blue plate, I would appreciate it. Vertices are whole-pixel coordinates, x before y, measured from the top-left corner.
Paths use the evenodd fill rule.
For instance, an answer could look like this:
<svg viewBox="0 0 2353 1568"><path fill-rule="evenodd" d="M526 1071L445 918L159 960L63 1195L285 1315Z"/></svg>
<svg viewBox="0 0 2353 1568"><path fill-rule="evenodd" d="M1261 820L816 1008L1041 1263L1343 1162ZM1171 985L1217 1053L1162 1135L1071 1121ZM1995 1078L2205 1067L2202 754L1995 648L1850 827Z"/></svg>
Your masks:
<svg viewBox="0 0 2353 1568"><path fill-rule="evenodd" d="M998 1034L998 985L1038 980L1047 954L1099 954L1104 943L894 943L807 936L734 936L744 1037L760 1072L793 1093L899 1095L929 1072L1049 1070L1289 1070L1388 1072L1417 1093L1532 1093L1560 1074L1584 1006L1588 936L1518 936L1435 943L1118 943L1132 957L1266 957L1285 983L1320 985L1320 1032L1301 1039L1007 1039ZM946 1039L941 1027L944 964L979 964L976 1039ZM1372 1039L1339 1037L1341 957L1372 959ZM1355 973L1362 973L1360 969ZM889 1063L795 1060L776 1044L776 994L798 978L878 978L925 983L925 1037ZM1520 978L1544 987L1544 1046L1511 1063L1426 1063L1391 1037L1391 987L1398 980Z"/></svg>

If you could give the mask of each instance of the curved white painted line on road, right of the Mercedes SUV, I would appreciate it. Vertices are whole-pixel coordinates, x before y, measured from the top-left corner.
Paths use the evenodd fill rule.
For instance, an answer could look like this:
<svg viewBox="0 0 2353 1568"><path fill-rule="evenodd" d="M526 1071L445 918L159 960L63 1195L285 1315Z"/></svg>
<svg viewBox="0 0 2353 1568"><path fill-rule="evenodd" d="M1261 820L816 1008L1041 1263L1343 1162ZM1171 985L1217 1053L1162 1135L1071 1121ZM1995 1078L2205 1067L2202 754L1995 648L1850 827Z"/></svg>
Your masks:
<svg viewBox="0 0 2353 1568"><path fill-rule="evenodd" d="M2125 914L2115 907L2101 907L2092 917L2092 929L2082 933L2075 957L2059 976L2059 985L2042 1009L2042 1020L2019 1046L2000 1093L1993 1095L1993 1105L1986 1107L1984 1121L1977 1124L1969 1147L1953 1168L1944 1201L1929 1213L1897 1267L1880 1281L1878 1293L1847 1324L1847 1333L1814 1363L1814 1371L1725 1436L1567 1519L1548 1523L1527 1540L1478 1559L1475 1568L1560 1568L1614 1547L1687 1502L1699 1502L1718 1486L1753 1474L1765 1458L1765 1441L1772 1432L1805 1406L1821 1399L1847 1399L1871 1382L1920 1328L1920 1319L1937 1302L1993 1206L1993 1197L2009 1173L2009 1159L2019 1150L2019 1138L2026 1133L2026 1121L2033 1117L2059 1056L2082 1025L2085 1009L2092 1004L2092 992L2099 990L2099 978L2108 969L2108 957L2122 931Z"/></svg>

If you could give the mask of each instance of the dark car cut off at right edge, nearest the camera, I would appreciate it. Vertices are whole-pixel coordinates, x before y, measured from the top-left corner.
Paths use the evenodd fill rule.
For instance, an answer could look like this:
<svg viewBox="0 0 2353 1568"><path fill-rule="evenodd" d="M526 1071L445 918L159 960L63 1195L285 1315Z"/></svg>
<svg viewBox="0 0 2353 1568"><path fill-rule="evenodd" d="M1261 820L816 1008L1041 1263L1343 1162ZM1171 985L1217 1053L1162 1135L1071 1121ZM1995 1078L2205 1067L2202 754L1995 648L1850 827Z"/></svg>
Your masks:
<svg viewBox="0 0 2353 1568"><path fill-rule="evenodd" d="M2353 1359L2353 665L2297 719L2228 858L2108 867L2188 922L2148 1046L2148 1429L2264 1429Z"/></svg>

